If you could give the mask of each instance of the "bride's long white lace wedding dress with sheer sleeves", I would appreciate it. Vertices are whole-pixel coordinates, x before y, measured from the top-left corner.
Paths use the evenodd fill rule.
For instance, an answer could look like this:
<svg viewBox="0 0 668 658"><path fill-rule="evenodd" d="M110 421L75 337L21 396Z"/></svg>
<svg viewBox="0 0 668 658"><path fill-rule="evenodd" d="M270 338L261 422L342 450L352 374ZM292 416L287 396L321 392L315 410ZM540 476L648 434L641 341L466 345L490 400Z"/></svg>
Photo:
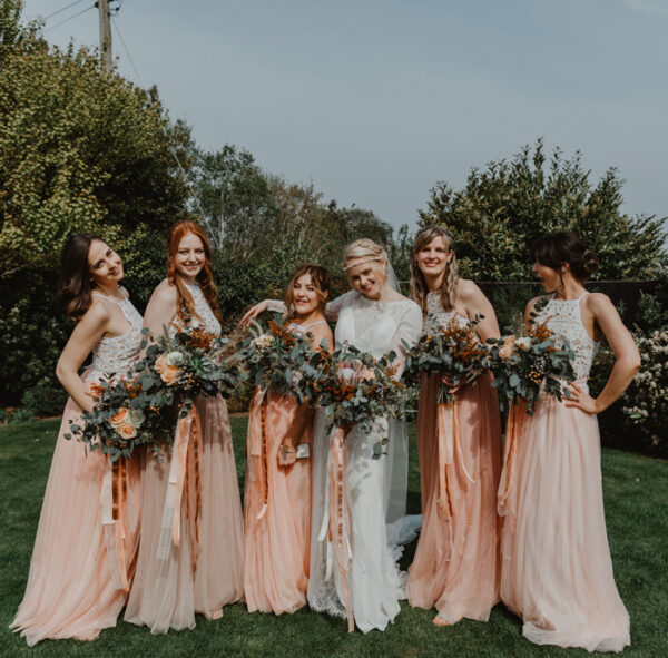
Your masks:
<svg viewBox="0 0 668 658"><path fill-rule="evenodd" d="M391 350L403 362L402 338L414 344L422 331L422 312L410 299L374 302L351 291L327 305L338 317L335 337L375 357ZM397 376L401 374L400 372ZM308 603L312 609L345 617L334 547L326 532L328 520L328 455L334 430L324 414L314 428L313 507ZM390 433L387 455L372 459L373 444ZM396 564L400 531L404 526L407 479L405 424L381 419L371 434L353 428L347 436L347 500L353 552L347 583L355 623L360 630L384 630L405 598L405 573ZM393 464L402 464L393 468ZM324 529L324 530L323 530Z"/></svg>

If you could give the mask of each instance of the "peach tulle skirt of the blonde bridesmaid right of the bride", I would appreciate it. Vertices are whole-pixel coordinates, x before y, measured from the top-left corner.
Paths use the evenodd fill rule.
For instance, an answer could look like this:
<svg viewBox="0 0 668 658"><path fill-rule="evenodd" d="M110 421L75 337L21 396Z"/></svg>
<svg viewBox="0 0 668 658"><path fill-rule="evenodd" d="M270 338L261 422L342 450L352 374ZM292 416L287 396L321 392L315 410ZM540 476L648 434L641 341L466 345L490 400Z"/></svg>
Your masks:
<svg viewBox="0 0 668 658"><path fill-rule="evenodd" d="M450 623L462 617L487 621L499 600L501 423L497 392L491 376L482 375L463 387L446 410L436 404L439 385L438 375L424 375L420 390L422 531L406 593L411 606L435 607ZM453 414L443 428L452 436L451 458L439 449L444 439L440 413Z"/></svg>

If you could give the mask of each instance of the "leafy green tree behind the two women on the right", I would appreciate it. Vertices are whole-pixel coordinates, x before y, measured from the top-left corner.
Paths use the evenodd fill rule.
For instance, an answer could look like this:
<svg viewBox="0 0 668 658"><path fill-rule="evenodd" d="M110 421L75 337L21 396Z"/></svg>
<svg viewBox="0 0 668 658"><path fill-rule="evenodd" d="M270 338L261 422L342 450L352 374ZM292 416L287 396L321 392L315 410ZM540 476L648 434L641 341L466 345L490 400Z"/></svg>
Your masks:
<svg viewBox="0 0 668 658"><path fill-rule="evenodd" d="M597 254L599 278L651 278L666 263L666 218L621 212L623 181L615 168L596 186L577 153L548 159L542 139L512 160L474 168L462 189L439 183L420 224L443 224L455 236L462 272L488 281L531 278L529 245L559 229L573 230Z"/></svg>

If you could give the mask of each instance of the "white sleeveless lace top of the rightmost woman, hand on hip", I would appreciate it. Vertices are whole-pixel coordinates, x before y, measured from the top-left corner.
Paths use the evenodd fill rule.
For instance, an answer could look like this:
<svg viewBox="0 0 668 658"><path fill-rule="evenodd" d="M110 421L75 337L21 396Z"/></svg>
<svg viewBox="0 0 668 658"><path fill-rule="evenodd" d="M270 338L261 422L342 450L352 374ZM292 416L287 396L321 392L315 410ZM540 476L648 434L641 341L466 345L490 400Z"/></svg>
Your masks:
<svg viewBox="0 0 668 658"><path fill-rule="evenodd" d="M580 315L580 301L587 294L577 299L556 299L552 296L536 318L537 322L544 322L557 335L566 336L576 353L573 369L579 382L588 380L598 348L598 342L587 333Z"/></svg>

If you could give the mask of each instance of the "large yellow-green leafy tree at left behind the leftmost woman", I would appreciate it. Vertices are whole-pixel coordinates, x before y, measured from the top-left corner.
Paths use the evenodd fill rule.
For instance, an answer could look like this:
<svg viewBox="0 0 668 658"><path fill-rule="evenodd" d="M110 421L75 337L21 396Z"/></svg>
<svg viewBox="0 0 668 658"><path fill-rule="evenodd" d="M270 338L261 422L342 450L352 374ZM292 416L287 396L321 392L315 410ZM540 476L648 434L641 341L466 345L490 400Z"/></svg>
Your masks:
<svg viewBox="0 0 668 658"><path fill-rule="evenodd" d="M187 216L173 149L188 144L155 89L100 71L95 51L48 48L21 2L0 2L0 397L52 380L69 332L53 303L60 249L90 230L124 257L141 306L164 236Z"/></svg>

